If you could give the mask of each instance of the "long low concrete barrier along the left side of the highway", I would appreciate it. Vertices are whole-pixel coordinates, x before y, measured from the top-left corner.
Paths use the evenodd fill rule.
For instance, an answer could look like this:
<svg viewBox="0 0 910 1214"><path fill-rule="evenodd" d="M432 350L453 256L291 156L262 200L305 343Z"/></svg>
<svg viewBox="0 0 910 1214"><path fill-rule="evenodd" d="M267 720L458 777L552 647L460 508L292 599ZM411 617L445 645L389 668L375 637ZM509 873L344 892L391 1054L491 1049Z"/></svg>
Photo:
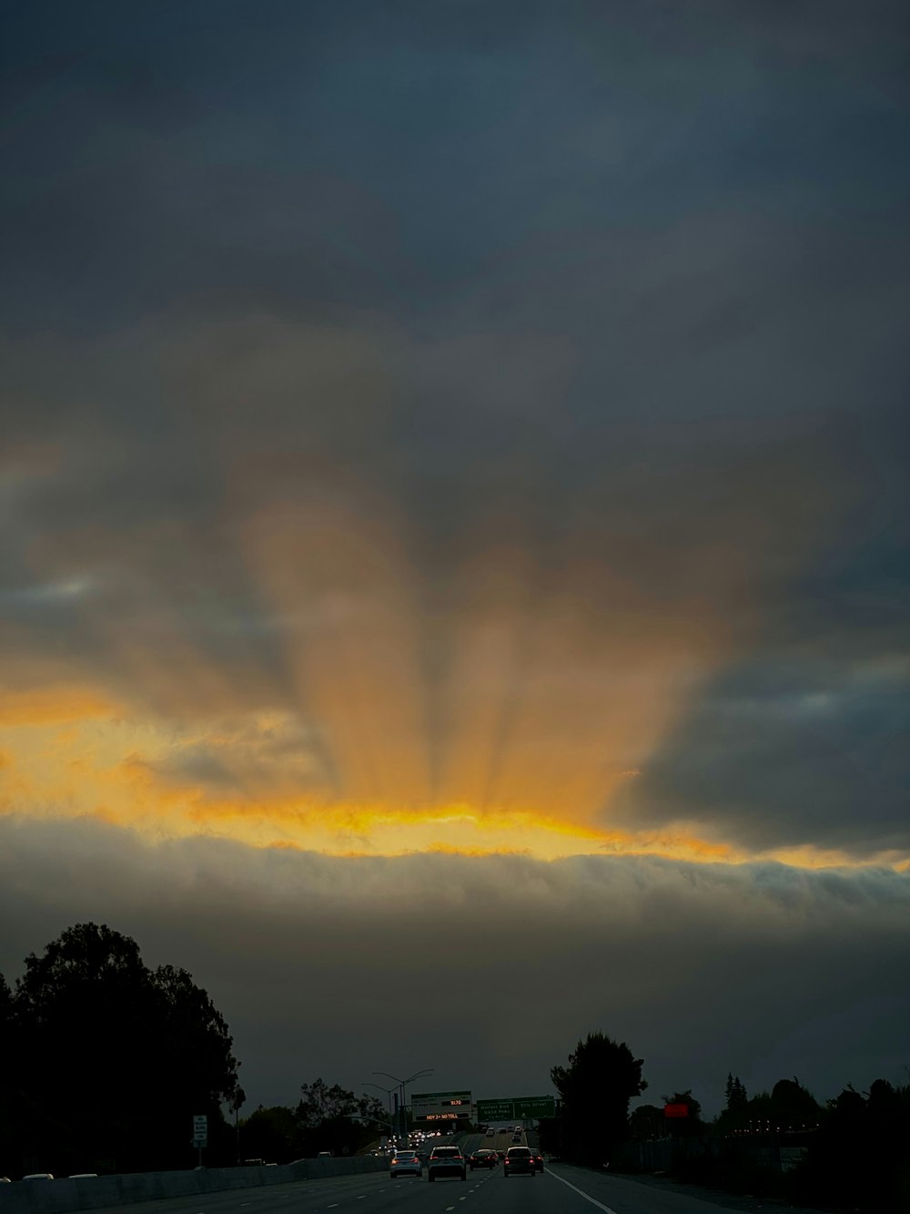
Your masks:
<svg viewBox="0 0 910 1214"><path fill-rule="evenodd" d="M258 1185L286 1185L298 1180L356 1176L387 1172L388 1159L377 1156L298 1159L273 1167L203 1168L190 1172L135 1172L119 1176L79 1176L59 1180L17 1180L0 1185L0 1214L70 1214L101 1210L163 1197L189 1197Z"/></svg>

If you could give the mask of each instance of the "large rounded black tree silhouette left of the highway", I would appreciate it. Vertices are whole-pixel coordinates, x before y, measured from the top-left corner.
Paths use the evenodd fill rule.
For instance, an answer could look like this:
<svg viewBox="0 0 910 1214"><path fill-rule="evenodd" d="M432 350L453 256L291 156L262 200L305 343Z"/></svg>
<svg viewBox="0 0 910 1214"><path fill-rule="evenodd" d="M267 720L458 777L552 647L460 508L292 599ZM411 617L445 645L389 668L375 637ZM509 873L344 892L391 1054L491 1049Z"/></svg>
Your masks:
<svg viewBox="0 0 910 1214"><path fill-rule="evenodd" d="M229 1150L237 1090L227 1025L186 970L133 940L76 924L0 976L0 1173L131 1172L193 1162L192 1119Z"/></svg>

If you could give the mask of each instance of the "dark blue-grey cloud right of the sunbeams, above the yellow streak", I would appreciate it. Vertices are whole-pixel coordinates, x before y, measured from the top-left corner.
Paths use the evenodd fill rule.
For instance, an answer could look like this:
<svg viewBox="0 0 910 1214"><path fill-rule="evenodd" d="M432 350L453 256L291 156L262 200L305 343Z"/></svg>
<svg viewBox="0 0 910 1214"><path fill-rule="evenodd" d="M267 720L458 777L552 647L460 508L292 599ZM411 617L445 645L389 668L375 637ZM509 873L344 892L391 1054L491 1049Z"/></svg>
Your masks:
<svg viewBox="0 0 910 1214"><path fill-rule="evenodd" d="M699 698L627 792L627 819L694 821L758 850L903 853L909 674L887 651L877 665L760 654Z"/></svg>

